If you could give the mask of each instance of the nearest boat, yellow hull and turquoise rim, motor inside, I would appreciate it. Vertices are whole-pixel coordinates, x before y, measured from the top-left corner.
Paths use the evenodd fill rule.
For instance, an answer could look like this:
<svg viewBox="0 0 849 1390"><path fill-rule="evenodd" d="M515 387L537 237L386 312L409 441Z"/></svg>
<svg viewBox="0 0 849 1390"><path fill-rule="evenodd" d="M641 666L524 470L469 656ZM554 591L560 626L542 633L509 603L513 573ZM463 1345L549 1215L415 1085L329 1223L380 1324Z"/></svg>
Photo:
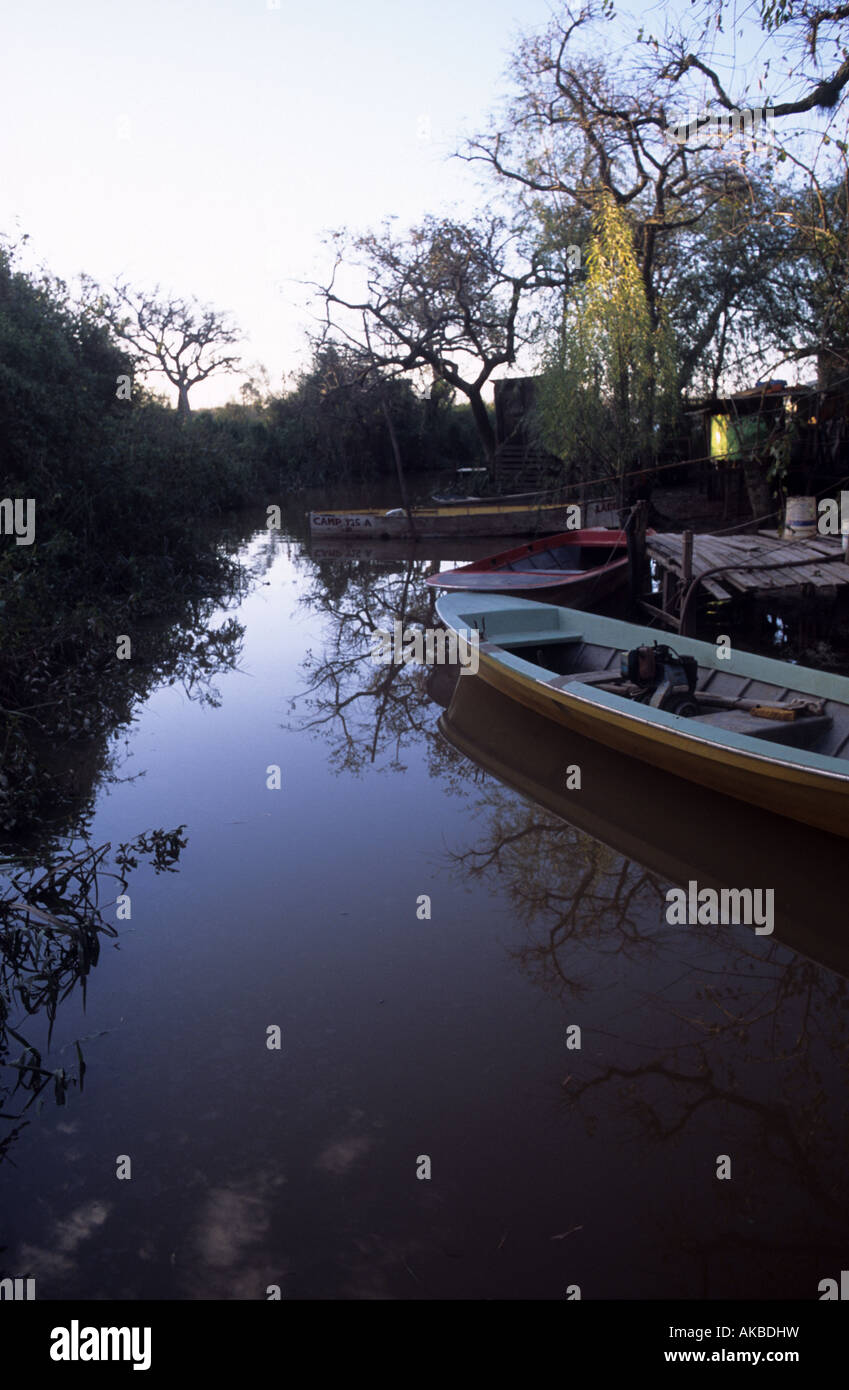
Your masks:
<svg viewBox="0 0 849 1390"><path fill-rule="evenodd" d="M849 837L849 680L617 619L489 594L436 602L464 663L607 748Z"/></svg>

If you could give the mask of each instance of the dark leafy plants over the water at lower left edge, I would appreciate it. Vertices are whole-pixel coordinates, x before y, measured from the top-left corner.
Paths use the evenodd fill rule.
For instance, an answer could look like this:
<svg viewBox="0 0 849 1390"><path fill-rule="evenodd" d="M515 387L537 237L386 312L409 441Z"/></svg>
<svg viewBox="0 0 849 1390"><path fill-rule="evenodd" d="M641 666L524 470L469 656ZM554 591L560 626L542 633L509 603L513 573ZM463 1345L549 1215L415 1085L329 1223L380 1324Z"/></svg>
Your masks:
<svg viewBox="0 0 849 1390"><path fill-rule="evenodd" d="M22 1123L0 1141L0 1161L28 1123L24 1112L50 1083L56 1102L64 1105L68 1088L82 1090L85 1077L79 1041L74 1044L76 1074L63 1066L50 1069L44 1066L44 1049L22 1036L22 1024L15 1019L15 1026L13 1015L44 1017L46 1049L50 1049L60 1004L79 986L85 1009L88 976L100 958L101 938L118 935L103 917L104 908L114 905L101 905L106 880L111 878L124 892L125 874L138 867L140 855L147 856L157 873L174 872L186 845L183 830L185 826L146 831L121 844L114 855L117 872L104 867L108 844L68 851L44 870L6 863L0 878L0 1069L11 1070L15 1081L11 1090L0 1083L0 1119ZM7 1059L10 1040L24 1049L15 1061ZM10 1112L6 1106L17 1093L28 1099L22 1111Z"/></svg>

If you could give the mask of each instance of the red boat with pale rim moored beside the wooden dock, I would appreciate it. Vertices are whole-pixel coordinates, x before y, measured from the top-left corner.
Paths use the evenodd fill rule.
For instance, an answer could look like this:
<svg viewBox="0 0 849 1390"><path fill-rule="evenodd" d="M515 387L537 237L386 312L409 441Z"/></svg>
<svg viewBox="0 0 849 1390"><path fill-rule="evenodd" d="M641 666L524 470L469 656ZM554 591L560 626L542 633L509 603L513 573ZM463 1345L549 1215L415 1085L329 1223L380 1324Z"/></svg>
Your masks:
<svg viewBox="0 0 849 1390"><path fill-rule="evenodd" d="M582 607L618 589L628 578L624 531L596 527L546 535L457 570L431 574L435 589L510 594L561 607Z"/></svg>

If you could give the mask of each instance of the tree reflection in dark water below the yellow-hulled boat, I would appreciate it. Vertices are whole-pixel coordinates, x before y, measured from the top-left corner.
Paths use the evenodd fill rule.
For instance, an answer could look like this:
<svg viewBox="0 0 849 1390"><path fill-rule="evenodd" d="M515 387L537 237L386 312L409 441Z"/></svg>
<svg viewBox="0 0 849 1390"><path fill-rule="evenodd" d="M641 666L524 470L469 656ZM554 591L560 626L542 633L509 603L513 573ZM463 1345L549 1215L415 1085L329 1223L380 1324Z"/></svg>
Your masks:
<svg viewBox="0 0 849 1390"><path fill-rule="evenodd" d="M724 1233L667 1209L670 1251L684 1247L703 1272L734 1250L761 1265L775 1251L836 1254L849 1218L848 981L752 929L667 926L664 878L492 778L475 820L485 828L449 855L453 870L497 876L522 937L510 955L584 1024L563 1104L589 1133L603 1119L610 1143L692 1151L707 1134L706 1175L713 1154L735 1155ZM614 1027L593 1027L610 956L632 963L629 1002Z"/></svg>

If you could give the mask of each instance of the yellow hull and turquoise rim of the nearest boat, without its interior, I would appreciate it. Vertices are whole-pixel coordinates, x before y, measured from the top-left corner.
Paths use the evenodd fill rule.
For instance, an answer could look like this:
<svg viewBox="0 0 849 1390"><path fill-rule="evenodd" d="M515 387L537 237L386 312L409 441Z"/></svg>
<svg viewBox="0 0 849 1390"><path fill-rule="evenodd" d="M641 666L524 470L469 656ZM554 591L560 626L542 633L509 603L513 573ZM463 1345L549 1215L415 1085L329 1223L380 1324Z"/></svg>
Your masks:
<svg viewBox="0 0 849 1390"><path fill-rule="evenodd" d="M454 627L461 634L463 626L457 627L454 621L459 606L464 603L464 607L471 610L475 602L486 603L486 595L468 595L461 600L460 595L446 595L439 599L436 610L446 626ZM495 607L495 598L489 603ZM561 616L570 613L568 609L557 612ZM588 614L575 613L574 617L575 623L579 623ZM610 623L597 617L593 617L593 621ZM631 639L625 637L623 649L635 646L643 639L643 628L616 623L610 627L623 631L629 628L634 634ZM482 641L479 645L481 678L528 709L575 734L603 742L607 748L638 758L675 777L849 838L849 763L843 759L839 762L843 763L845 771L827 770L800 760L798 749L788 749L784 745L759 746L756 738L743 735L723 738L716 731L710 737L693 720L652 710L634 701L592 689L579 680L571 680L559 688L552 682L563 680L561 677L509 653L499 655L500 649L493 651L493 642ZM716 648L706 642L677 638L675 648L682 655L689 653L696 659L706 660L711 653L716 659ZM468 652L468 644L463 638L461 649ZM755 657L748 660L755 664L759 662ZM796 678L805 674L821 674L766 659L760 664L770 669L782 667ZM842 677L823 677L820 684L827 682L842 682L849 692L849 681ZM805 688L799 680L793 684L796 688ZM823 759L823 762L838 763L838 759Z"/></svg>

